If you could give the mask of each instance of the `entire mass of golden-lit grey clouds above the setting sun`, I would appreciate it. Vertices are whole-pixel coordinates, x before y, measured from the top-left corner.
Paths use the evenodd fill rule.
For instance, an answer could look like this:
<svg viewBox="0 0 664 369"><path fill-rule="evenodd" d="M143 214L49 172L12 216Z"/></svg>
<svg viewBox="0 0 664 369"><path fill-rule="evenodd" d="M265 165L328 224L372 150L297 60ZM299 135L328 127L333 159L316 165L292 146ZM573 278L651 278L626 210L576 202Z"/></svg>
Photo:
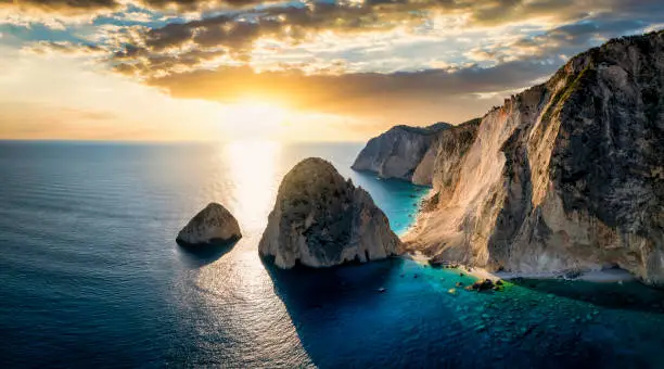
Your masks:
<svg viewBox="0 0 664 369"><path fill-rule="evenodd" d="M16 3L114 11L75 41L42 41L26 51L103 56L106 67L173 97L250 97L394 120L471 117L577 52L664 22L654 0Z"/></svg>

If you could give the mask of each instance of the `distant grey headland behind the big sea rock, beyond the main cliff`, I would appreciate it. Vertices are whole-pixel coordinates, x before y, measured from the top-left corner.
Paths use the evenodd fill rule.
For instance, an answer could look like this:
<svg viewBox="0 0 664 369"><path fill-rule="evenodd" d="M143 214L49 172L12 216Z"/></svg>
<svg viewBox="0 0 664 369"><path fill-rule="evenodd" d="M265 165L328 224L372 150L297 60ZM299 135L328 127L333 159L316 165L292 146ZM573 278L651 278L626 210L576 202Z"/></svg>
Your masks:
<svg viewBox="0 0 664 369"><path fill-rule="evenodd" d="M417 182L430 184L431 169L427 171L426 166L433 164L435 157L435 151L430 149L436 141L436 135L450 127L447 123L437 123L425 128L393 127L369 140L355 160L353 169L372 171L381 178L410 181L414 177ZM423 160L426 166L418 170Z"/></svg>

